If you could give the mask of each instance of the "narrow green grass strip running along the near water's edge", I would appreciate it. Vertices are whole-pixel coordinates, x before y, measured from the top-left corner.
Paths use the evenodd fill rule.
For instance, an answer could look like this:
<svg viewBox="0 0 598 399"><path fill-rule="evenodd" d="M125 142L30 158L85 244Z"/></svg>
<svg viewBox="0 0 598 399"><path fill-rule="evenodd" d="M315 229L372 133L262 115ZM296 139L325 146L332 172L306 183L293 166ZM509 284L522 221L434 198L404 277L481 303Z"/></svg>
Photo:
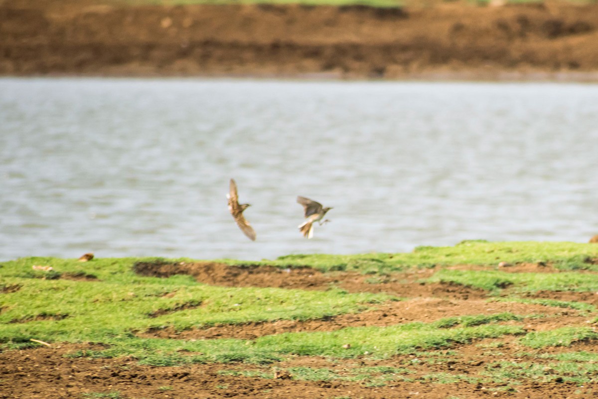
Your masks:
<svg viewBox="0 0 598 399"><path fill-rule="evenodd" d="M508 263L545 262L554 264L561 270L596 270L598 265L591 260L598 258L598 245L590 243L572 242L486 242L483 240L463 241L454 246L419 246L412 252L404 253L372 253L356 255L285 255L276 260L247 262L242 260L215 260L225 264L272 265L279 267L309 266L323 272L357 271L364 274L386 274L400 272L412 267L428 268L469 264L487 266L495 269L501 261ZM97 279L115 281L118 279L130 282L146 281L142 276L136 276L130 269L136 261L155 261L155 258L95 258L87 263L75 260L29 257L15 261L2 262L1 276L15 276L26 278L48 278L48 272L32 270L34 264L51 266L54 273L89 273ZM179 261L193 262L188 258L164 260L170 263ZM500 283L500 282L498 282ZM1 283L0 283L1 284Z"/></svg>

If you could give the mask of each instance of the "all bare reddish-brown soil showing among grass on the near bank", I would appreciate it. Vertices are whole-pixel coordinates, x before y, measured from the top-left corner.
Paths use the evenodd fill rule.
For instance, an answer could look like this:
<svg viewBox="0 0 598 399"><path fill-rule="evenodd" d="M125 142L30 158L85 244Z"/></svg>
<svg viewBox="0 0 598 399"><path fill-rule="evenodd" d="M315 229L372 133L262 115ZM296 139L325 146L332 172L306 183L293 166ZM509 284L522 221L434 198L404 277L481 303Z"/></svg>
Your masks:
<svg viewBox="0 0 598 399"><path fill-rule="evenodd" d="M466 268L469 266L456 266ZM471 268L471 267L469 267ZM537 269L537 270L536 270ZM166 278L176 273L193 275L208 284L237 287L284 287L302 290L327 290L332 286L347 291L388 292L401 297L402 301L373 304L371 309L348 315L338 315L307 321L280 320L253 322L242 325L215 325L204 329L174 331L172 328L137 331L138 336L181 340L196 339L255 339L269 334L294 331L334 331L343 327L386 326L405 322L432 322L451 316L493 314L512 312L527 315L523 325L527 331L545 331L570 326L594 325L594 315L576 310L547 307L538 304L502 302L480 290L451 284L422 284L419 279L429 277L433 269L411 270L390 276L362 276L356 273L336 272L325 274L303 268L278 269L269 266L227 266L220 263L166 263L164 261L137 263L136 272L147 276ZM504 267L514 273L539 271L557 272L550 265L515 264ZM372 280L372 278L379 278ZM88 284L94 284L89 279ZM12 288L11 288L12 289ZM505 291L508 291L505 290ZM172 293L166 294L172 295ZM584 301L598 304L595 293L565 293L541 291L528 294L530 298ZM185 303L176 312L201 303ZM158 316L155 314L153 316ZM25 322L25 321L19 321ZM515 323L515 322L507 322ZM533 358L544 365L546 379L522 380L521 385L507 383L470 383L459 380L451 383L429 382L426 376L450 375L480 379L484 373L494 370L498 361L529 362L535 353L559 353L563 351L598 351L598 342L580 341L569 348L548 348L535 351L522 348L517 337L497 340L481 340L469 345L451 348L440 357L426 354L399 355L388 360L358 358L334 360L321 357L291 357L268 366L242 363L192 364L180 367L152 367L138 364L134 359L93 359L63 357L76 351L103 349L89 343L60 344L49 348L43 346L20 351L0 353L0 398L78 398L85 394L116 395L120 398L429 398L460 399L484 397L508 398L590 398L595 397L598 383L578 386L559 379L550 366L550 360ZM358 368L391 366L405 368L405 380L395 378L384 386L368 386L368 380L310 381L301 379L295 367L328 368L347 379ZM263 376L231 375L234 372L254 371ZM88 397L93 397L89 396ZM105 396L110 397L110 396Z"/></svg>

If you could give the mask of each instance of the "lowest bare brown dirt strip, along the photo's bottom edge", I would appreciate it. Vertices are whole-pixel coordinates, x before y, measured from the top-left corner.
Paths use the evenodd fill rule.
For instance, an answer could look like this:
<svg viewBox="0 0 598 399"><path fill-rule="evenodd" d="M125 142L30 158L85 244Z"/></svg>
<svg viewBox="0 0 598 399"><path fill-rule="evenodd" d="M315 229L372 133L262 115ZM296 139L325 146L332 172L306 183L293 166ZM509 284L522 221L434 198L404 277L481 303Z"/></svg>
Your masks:
<svg viewBox="0 0 598 399"><path fill-rule="evenodd" d="M596 384L578 386L568 382L529 382L517 386L517 392L501 391L504 383L431 383L423 376L457 373L478 376L498 360L529 361L505 342L501 348L489 349L484 342L466 345L459 354L447 358L403 355L391 360L347 360L341 363L319 357L298 357L277 365L288 370L295 367L329 368L339 374L359 367L404 367L405 377L413 381L392 380L385 386L367 386L368 380L307 381L289 373L288 378L274 379L273 371L243 364L192 364L181 367L142 366L132 359L68 358L63 355L85 349L86 345L60 345L0 353L0 398L31 399L40 397L77 398L84 394L114 394L121 398L428 398L462 399L504 397L513 399L593 397ZM559 351L560 349L557 349ZM585 346L597 351L596 344ZM431 360L431 361L424 361ZM261 371L270 378L226 375L234 371ZM494 393L494 389L497 389ZM449 396L447 396L449 395Z"/></svg>

